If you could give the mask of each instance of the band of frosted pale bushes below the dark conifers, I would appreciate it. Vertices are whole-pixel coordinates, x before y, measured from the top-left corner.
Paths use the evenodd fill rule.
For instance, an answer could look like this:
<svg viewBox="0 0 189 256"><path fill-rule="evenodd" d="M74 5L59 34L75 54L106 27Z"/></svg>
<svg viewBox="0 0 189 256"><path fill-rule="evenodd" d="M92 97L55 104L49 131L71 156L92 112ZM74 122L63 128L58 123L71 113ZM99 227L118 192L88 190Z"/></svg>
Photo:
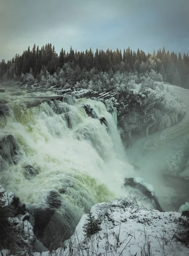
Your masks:
<svg viewBox="0 0 189 256"><path fill-rule="evenodd" d="M65 65L63 69L57 71L54 75L50 75L46 69L41 70L40 76L34 79L32 75L32 70L30 73L22 74L20 81L23 84L35 84L41 85L45 88L58 88L58 89L69 89L74 87L74 89L89 89L97 90L99 93L102 91L115 91L118 93L123 93L129 89L134 89L135 84L141 84L141 90L145 90L147 87L154 89L155 81L163 82L163 77L160 73L156 73L154 70L139 75L136 73L121 73L116 71L115 73L110 70L110 72L97 72L93 69L89 72L86 71L83 74L83 79L76 81L74 80L74 71L70 68L69 64Z"/></svg>

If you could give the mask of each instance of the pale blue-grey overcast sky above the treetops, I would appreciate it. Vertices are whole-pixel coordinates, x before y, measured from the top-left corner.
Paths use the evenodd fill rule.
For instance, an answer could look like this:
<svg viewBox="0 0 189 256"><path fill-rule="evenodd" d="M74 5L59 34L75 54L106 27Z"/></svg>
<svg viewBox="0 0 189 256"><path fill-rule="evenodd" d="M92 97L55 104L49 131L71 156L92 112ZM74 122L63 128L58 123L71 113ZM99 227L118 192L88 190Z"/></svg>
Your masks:
<svg viewBox="0 0 189 256"><path fill-rule="evenodd" d="M189 0L0 0L0 59L34 43L189 52Z"/></svg>

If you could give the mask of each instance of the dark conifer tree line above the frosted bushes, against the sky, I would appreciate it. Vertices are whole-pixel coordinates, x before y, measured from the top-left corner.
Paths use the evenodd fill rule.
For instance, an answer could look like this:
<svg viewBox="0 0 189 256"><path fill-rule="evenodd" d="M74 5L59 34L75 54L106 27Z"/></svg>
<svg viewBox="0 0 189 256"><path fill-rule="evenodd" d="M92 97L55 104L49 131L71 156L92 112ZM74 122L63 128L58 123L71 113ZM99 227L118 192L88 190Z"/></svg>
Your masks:
<svg viewBox="0 0 189 256"><path fill-rule="evenodd" d="M67 67L74 70L75 82L82 79L82 73L93 70L93 72L115 73L135 73L143 75L146 72L154 70L160 73L163 81L175 84L189 89L189 55L175 52L169 52L159 49L152 54L146 54L138 49L132 51L129 47L123 52L119 49L96 49L95 52L90 48L86 51L77 51L70 48L66 52L63 48L57 54L52 44L46 44L39 49L34 44L33 48L28 47L22 55L16 54L9 61L4 59L0 62L0 80L20 81L23 74L31 73L36 79L40 73L46 70L50 75L60 73Z"/></svg>

